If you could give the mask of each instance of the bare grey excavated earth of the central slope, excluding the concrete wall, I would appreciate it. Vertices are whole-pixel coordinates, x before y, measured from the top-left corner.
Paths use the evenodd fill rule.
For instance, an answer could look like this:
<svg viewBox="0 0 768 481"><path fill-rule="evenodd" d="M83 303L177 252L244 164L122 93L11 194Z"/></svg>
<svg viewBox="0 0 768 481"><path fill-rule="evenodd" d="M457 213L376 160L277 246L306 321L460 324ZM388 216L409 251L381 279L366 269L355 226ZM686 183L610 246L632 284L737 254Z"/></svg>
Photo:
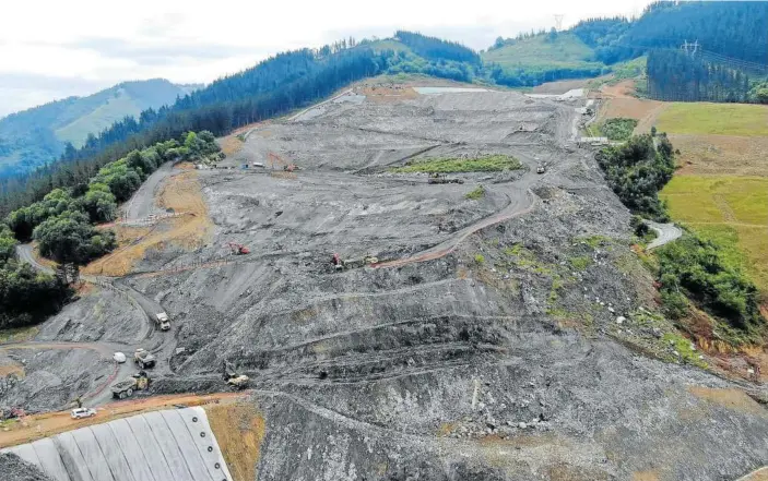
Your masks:
<svg viewBox="0 0 768 481"><path fill-rule="evenodd" d="M259 480L735 480L768 464L757 387L662 341L629 213L574 142L580 101L347 95L257 125L235 169L199 172L214 241L125 280L175 323L154 392L224 389L236 363L265 419ZM300 170L270 170L270 153ZM524 169L441 185L388 170L485 154ZM227 242L250 254L218 262ZM336 272L333 253L353 262ZM42 336L141 329L99 327L97 305Z"/></svg>

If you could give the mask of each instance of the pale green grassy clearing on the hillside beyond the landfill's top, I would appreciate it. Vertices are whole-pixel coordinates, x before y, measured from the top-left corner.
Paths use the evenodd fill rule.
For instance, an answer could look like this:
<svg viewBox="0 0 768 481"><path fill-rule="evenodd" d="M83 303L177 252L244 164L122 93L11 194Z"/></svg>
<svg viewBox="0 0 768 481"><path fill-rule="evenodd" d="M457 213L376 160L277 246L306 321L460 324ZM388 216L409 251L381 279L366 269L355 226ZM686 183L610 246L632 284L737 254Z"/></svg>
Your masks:
<svg viewBox="0 0 768 481"><path fill-rule="evenodd" d="M483 60L507 68L533 70L603 67L601 62L588 61L591 55L592 49L576 35L560 33L554 41L550 41L546 35L539 35L488 50L483 53Z"/></svg>

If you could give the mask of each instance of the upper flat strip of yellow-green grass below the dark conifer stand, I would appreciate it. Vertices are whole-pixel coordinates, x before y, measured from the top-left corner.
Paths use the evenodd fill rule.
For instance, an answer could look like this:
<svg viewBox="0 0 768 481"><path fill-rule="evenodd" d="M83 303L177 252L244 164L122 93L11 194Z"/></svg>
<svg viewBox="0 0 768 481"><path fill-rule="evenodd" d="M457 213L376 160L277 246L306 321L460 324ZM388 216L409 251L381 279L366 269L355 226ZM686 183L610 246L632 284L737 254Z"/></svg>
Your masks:
<svg viewBox="0 0 768 481"><path fill-rule="evenodd" d="M674 103L659 115L660 132L676 134L768 135L768 106Z"/></svg>

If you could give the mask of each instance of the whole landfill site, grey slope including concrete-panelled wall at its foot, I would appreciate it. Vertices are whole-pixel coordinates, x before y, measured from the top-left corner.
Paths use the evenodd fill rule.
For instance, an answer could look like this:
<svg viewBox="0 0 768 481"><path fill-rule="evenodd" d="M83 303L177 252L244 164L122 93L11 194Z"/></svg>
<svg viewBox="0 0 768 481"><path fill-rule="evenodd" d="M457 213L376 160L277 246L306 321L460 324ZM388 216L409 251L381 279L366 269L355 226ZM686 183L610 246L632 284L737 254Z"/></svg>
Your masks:
<svg viewBox="0 0 768 481"><path fill-rule="evenodd" d="M768 396L666 340L580 142L592 100L424 82L356 84L223 140L215 168L155 172L120 249L157 242L0 345L0 406L25 413L0 478L761 479ZM516 161L407 169L492 156ZM180 180L199 211L164 218Z"/></svg>

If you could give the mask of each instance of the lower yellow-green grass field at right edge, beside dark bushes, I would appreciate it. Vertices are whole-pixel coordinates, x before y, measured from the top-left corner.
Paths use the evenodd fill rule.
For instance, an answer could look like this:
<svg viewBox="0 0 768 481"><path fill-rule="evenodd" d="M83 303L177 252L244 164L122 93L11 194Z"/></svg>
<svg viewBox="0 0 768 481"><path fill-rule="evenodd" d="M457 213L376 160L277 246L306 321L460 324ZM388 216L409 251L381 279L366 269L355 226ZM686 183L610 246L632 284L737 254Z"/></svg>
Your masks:
<svg viewBox="0 0 768 481"><path fill-rule="evenodd" d="M768 179L675 176L660 196L674 220L717 241L768 292Z"/></svg>

